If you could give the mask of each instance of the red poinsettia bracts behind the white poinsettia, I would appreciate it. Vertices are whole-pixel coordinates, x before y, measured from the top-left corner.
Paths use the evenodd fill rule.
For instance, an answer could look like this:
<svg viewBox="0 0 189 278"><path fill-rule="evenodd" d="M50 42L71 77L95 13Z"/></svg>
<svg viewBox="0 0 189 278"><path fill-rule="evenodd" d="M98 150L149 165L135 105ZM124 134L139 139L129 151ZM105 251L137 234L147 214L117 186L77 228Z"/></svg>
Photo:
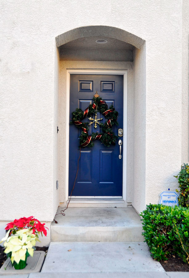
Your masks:
<svg viewBox="0 0 189 278"><path fill-rule="evenodd" d="M30 217L22 217L20 219L14 219L13 222L7 224L5 230L9 230L10 233L15 234L16 231L22 229L30 229L33 231L33 234L40 234L43 236L47 236L47 227L45 224L41 224L41 222L35 219L33 216ZM43 233L43 234L42 234Z"/></svg>

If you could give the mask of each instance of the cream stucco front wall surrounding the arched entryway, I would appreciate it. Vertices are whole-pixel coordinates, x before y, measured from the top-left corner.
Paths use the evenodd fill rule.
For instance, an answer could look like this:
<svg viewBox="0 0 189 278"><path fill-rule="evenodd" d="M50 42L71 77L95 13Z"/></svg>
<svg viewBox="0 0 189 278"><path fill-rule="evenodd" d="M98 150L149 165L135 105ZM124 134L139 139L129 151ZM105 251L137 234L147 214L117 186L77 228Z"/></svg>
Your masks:
<svg viewBox="0 0 189 278"><path fill-rule="evenodd" d="M162 189L175 189L173 175L188 159L185 9L182 18L187 5L181 0L1 1L1 220L23 214L43 221L54 217L58 204L55 37L80 26L113 26L146 41L145 119L142 114L146 150L144 154L143 145L138 145L142 174L134 184L139 192L145 184L146 203L158 202ZM141 211L144 203L136 199L135 208Z"/></svg>

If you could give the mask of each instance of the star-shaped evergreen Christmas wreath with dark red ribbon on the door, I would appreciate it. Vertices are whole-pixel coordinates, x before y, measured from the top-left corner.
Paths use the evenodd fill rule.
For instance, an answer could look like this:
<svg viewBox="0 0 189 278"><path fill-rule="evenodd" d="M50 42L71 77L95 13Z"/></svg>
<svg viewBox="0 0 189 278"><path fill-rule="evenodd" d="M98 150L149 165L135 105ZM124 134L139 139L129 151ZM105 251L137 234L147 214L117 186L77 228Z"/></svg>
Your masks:
<svg viewBox="0 0 189 278"><path fill-rule="evenodd" d="M107 120L105 123L99 123L97 119L97 112L100 112ZM95 119L92 118L92 114L95 113ZM83 123L83 120L86 117L89 117L91 122ZM82 111L80 108L76 108L74 112L72 112L72 119L70 124L74 124L77 128L81 128L80 134L80 146L91 148L94 145L95 140L100 140L102 144L109 147L110 145L115 145L115 141L118 138L112 131L113 124L118 125L117 122L118 112L114 109L113 105L111 105L108 109L108 105L105 100L102 100L101 97L93 97L93 103L90 104L85 111ZM88 135L88 126L95 122L95 128L97 124L99 124L102 133L92 133Z"/></svg>

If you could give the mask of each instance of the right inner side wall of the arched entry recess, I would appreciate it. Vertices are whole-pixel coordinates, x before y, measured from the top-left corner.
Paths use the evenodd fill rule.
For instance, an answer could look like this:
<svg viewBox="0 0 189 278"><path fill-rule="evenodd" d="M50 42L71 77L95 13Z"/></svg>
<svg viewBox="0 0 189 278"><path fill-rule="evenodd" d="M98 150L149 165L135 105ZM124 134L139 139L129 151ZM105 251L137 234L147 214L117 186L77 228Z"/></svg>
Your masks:
<svg viewBox="0 0 189 278"><path fill-rule="evenodd" d="M134 50L132 205L146 205L146 44Z"/></svg>

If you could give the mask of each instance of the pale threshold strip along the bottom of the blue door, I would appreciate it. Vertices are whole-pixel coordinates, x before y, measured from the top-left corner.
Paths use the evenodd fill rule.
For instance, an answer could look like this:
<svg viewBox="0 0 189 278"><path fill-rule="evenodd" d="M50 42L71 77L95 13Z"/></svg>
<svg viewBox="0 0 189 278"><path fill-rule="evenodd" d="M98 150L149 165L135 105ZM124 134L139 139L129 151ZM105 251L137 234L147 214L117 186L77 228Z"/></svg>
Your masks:
<svg viewBox="0 0 189 278"><path fill-rule="evenodd" d="M67 200L68 204L69 200ZM117 204L125 203L123 198L71 198L70 203L88 203L88 204Z"/></svg>

